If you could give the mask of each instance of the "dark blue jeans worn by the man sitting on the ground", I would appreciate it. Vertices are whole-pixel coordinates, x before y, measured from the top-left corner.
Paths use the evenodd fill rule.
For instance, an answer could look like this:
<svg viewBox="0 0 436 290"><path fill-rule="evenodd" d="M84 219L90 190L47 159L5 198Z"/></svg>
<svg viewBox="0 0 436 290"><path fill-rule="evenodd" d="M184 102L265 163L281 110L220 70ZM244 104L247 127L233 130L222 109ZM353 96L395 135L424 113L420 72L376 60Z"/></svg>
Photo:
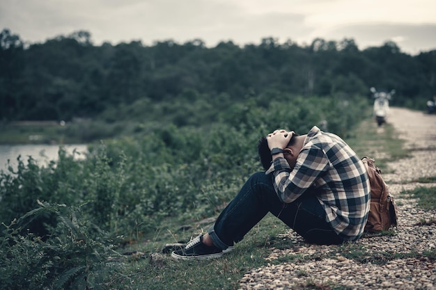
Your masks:
<svg viewBox="0 0 436 290"><path fill-rule="evenodd" d="M279 200L272 184L273 176L257 172L247 180L240 192L218 216L209 234L221 249L238 243L268 212L277 216L309 243L339 244L339 237L325 221L325 210L318 198L306 191L291 203Z"/></svg>

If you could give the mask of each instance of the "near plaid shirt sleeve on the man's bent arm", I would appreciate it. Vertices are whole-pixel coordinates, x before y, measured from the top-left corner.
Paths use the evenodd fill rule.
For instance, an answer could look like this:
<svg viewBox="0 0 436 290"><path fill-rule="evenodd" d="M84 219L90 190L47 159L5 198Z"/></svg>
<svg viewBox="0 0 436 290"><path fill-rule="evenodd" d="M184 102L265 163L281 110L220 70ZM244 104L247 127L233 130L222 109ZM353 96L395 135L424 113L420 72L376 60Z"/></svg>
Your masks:
<svg viewBox="0 0 436 290"><path fill-rule="evenodd" d="M297 200L316 179L329 168L329 159L320 147L311 146L299 152L295 167L290 168L283 157L274 159L266 173L273 172L274 188L280 200Z"/></svg>

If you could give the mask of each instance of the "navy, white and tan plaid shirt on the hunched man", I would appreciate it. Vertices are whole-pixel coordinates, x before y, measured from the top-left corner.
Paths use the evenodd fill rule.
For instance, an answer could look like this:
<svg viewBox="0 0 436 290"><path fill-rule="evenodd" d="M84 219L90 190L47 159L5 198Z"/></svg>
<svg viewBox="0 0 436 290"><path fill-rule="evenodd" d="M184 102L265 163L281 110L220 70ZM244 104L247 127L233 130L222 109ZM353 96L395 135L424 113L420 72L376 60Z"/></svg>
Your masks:
<svg viewBox="0 0 436 290"><path fill-rule="evenodd" d="M370 205L370 186L364 164L338 136L313 127L293 169L284 158L274 159L274 188L283 202L293 202L308 188L326 212L326 220L346 241L364 232Z"/></svg>

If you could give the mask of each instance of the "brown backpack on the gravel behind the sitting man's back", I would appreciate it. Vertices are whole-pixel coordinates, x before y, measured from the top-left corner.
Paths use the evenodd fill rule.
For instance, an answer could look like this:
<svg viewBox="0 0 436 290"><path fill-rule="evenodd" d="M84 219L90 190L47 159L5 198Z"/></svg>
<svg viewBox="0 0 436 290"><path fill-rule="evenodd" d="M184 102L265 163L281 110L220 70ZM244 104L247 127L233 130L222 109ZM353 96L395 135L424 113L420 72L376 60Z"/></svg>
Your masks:
<svg viewBox="0 0 436 290"><path fill-rule="evenodd" d="M398 209L394 197L389 193L380 168L375 166L375 160L366 156L361 161L371 184L371 207L365 232L387 231L392 225L397 225Z"/></svg>

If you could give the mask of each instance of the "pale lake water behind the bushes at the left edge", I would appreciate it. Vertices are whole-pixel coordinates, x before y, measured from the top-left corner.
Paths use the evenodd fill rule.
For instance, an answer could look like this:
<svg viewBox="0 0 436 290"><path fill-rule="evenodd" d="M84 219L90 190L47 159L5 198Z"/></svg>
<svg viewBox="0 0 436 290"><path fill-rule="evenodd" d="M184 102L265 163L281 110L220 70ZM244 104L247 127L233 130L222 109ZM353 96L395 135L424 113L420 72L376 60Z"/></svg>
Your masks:
<svg viewBox="0 0 436 290"><path fill-rule="evenodd" d="M63 145L65 150L72 154L73 150L86 153L87 147L83 144ZM47 165L49 161L58 158L59 145L0 145L0 170L7 170L8 159L13 168L17 168L17 157L21 155L21 160L27 164L28 156L38 161L40 166ZM76 159L84 158L84 154L75 154Z"/></svg>

